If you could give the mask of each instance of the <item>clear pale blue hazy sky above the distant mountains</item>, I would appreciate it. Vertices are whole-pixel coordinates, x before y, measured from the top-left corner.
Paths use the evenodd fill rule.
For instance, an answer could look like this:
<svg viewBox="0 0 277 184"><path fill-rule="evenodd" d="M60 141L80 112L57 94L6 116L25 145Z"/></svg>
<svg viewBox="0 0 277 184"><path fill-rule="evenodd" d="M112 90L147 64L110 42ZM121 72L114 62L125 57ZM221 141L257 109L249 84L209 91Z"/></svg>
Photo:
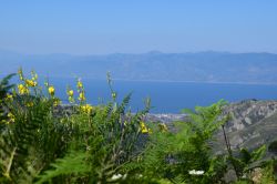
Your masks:
<svg viewBox="0 0 277 184"><path fill-rule="evenodd" d="M277 53L277 1L2 0L0 50Z"/></svg>

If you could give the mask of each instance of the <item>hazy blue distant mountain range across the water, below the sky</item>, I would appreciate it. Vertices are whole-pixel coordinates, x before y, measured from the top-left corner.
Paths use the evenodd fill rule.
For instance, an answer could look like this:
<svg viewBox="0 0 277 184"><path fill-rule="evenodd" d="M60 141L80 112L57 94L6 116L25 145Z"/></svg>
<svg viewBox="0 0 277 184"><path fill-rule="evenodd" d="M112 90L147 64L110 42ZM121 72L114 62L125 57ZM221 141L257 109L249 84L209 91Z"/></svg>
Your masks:
<svg viewBox="0 0 277 184"><path fill-rule="evenodd" d="M0 51L0 74L19 67L59 78L277 84L274 53L114 53L106 55L19 54Z"/></svg>

